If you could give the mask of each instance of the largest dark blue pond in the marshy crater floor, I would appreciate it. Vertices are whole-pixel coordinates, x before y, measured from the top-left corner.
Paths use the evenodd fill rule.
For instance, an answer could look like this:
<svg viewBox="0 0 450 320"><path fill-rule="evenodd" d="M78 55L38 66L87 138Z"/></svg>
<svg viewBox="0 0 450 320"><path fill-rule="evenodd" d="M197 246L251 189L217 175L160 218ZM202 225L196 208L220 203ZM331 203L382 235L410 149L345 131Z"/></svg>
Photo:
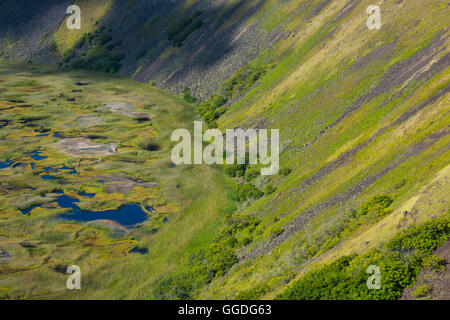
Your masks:
<svg viewBox="0 0 450 320"><path fill-rule="evenodd" d="M61 195L57 198L61 208L71 209L68 213L59 215L60 218L75 221L94 221L94 220L112 220L120 223L125 227L135 227L136 224L142 223L148 219L147 213L142 210L138 204L126 204L117 210L107 211L87 211L81 210L76 204L77 199Z"/></svg>

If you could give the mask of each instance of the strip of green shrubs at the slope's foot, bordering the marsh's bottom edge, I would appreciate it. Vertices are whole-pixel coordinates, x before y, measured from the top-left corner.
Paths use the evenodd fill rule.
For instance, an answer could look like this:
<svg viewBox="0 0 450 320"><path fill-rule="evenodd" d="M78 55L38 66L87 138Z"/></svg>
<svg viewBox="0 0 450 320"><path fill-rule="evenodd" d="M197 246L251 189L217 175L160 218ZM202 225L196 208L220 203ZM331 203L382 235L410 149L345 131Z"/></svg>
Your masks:
<svg viewBox="0 0 450 320"><path fill-rule="evenodd" d="M187 267L169 275L158 283L155 299L193 299L200 288L216 277L223 276L236 262L236 233L260 223L255 217L244 214L227 216L218 237L206 250L188 259Z"/></svg>

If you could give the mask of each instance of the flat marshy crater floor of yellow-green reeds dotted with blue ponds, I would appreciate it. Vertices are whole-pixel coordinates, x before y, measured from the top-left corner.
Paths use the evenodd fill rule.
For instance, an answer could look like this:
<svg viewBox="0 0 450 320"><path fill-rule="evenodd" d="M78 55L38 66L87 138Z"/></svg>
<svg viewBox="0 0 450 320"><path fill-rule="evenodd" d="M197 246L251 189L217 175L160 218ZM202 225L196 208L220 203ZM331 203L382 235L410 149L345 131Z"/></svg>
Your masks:
<svg viewBox="0 0 450 320"><path fill-rule="evenodd" d="M130 283L153 286L179 252L209 241L203 230L231 202L223 177L168 167L165 138L191 126L191 105L130 79L32 64L0 64L0 92L0 297L42 297L45 287L45 298L70 299L61 271L73 261L86 277L124 281L111 298L132 295ZM120 103L107 110L108 101ZM92 285L81 296L95 298Z"/></svg>

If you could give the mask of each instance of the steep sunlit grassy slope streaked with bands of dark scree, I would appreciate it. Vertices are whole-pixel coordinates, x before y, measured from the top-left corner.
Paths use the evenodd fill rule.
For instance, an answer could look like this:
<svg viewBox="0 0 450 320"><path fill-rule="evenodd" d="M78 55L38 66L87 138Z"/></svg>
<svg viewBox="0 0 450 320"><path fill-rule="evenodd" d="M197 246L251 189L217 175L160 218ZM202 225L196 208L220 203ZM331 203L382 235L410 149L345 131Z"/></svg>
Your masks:
<svg viewBox="0 0 450 320"><path fill-rule="evenodd" d="M300 1L280 9L291 36L253 62L276 67L218 125L280 128L281 164L292 172L256 182L277 192L242 209L261 221L236 235L251 243L199 297L247 290L273 297L300 270L367 252L448 212L441 171L449 163L448 4L383 3L379 31L365 25L369 4ZM393 202L358 218L376 196Z"/></svg>

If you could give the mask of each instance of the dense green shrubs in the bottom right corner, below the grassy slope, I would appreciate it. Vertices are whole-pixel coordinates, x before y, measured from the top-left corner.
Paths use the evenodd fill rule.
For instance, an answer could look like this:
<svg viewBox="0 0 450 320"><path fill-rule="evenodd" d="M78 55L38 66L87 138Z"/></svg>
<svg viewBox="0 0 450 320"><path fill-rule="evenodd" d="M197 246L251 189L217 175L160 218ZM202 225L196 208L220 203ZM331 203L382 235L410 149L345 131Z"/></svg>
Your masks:
<svg viewBox="0 0 450 320"><path fill-rule="evenodd" d="M448 216L412 227L380 249L364 255L341 257L330 265L309 271L277 299L399 299L414 284L423 261L450 235ZM381 269L381 289L369 290L369 265Z"/></svg>

